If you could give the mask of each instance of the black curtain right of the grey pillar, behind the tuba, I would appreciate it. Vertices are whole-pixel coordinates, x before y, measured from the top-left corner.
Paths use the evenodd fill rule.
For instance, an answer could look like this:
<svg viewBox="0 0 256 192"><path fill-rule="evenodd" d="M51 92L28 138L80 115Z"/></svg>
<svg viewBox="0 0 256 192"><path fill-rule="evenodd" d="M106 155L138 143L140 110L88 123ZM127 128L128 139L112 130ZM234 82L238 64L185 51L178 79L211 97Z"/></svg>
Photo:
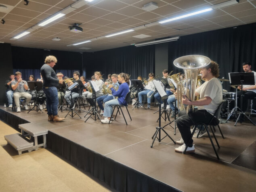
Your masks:
<svg viewBox="0 0 256 192"><path fill-rule="evenodd" d="M208 56L216 61L220 66L220 78L228 79L230 72L243 72L241 64L244 61L249 61L253 70L256 62L256 23L186 35L178 41L169 42L169 71L182 72L173 65L173 61L190 54Z"/></svg>

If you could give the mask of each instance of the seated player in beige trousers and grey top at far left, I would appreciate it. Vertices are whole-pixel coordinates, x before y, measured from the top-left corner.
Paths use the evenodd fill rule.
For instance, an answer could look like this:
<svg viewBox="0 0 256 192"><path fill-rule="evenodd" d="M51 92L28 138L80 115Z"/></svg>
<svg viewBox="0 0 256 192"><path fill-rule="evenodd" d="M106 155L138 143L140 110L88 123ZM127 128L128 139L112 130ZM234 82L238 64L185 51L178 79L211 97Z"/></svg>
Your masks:
<svg viewBox="0 0 256 192"><path fill-rule="evenodd" d="M23 81L21 78L21 72L17 71L15 73L16 80L11 82L11 87L13 89L13 98L15 105L17 106L17 112L21 112L21 108L19 105L19 98L25 97L26 102L25 102L25 110L28 109L28 103L31 100L31 94L27 93L28 86L27 86L27 81Z"/></svg>

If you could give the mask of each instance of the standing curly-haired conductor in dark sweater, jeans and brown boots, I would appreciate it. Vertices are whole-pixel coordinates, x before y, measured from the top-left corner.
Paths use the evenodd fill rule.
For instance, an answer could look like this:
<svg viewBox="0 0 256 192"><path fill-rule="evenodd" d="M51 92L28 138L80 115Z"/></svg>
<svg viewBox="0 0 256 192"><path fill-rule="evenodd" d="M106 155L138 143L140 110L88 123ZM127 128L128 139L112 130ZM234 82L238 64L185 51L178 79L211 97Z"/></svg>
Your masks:
<svg viewBox="0 0 256 192"><path fill-rule="evenodd" d="M58 122L63 121L65 118L58 116L58 91L59 83L63 83L63 79L58 79L55 71L52 69L57 63L55 56L46 56L44 65L41 67L40 72L43 79L43 91L46 95L46 108L48 112L48 121Z"/></svg>

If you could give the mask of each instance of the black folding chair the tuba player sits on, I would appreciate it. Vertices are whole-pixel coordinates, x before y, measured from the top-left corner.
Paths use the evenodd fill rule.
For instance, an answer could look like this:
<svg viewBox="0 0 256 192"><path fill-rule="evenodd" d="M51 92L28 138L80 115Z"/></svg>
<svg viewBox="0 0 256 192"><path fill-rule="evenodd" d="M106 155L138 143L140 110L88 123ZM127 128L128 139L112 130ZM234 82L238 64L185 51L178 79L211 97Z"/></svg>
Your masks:
<svg viewBox="0 0 256 192"><path fill-rule="evenodd" d="M219 126L220 121L218 120L218 118L220 117L220 110L221 110L221 107L222 107L222 105L223 105L224 102L226 102L226 100L222 100L222 102L219 104L218 108L216 109L216 111L215 111L214 115L212 116L212 119L210 120L209 123L197 123L196 125L194 125L193 131L192 131L192 134L191 134L191 137L189 138L189 142L190 142L190 141L192 140L193 134L195 133L195 129L197 128L197 125L199 125L199 124L204 125L204 128L206 129L206 132L207 132L207 134L208 134L208 137L210 138L210 141L211 141L211 144L212 144L212 148L214 149L214 152L215 152L215 154L216 154L217 159L220 159L220 157L218 156L218 152L216 151L216 148L215 148L215 146L214 146L214 144L213 144L213 142L212 142L212 137L211 137L210 132L209 132L209 130L208 130L208 126L210 127L210 129L211 129L211 131L212 131L212 134L213 134L213 136L214 136L214 139L215 139L215 141L216 141L216 144L217 144L218 148L220 148L220 146L219 146L219 144L218 144L218 141L217 141L217 139L216 139L216 136L215 136L215 134L214 134L214 131L212 130L212 126L218 126L218 129L220 130L220 126ZM199 135L199 132L200 132L200 131L198 131L197 136ZM224 136L223 136L221 130L220 130L220 134L221 134L222 138L224 139ZM188 142L188 143L189 143L189 142ZM185 148L185 150L184 150L184 153L186 153L187 148L188 148L188 146L186 146L186 148Z"/></svg>

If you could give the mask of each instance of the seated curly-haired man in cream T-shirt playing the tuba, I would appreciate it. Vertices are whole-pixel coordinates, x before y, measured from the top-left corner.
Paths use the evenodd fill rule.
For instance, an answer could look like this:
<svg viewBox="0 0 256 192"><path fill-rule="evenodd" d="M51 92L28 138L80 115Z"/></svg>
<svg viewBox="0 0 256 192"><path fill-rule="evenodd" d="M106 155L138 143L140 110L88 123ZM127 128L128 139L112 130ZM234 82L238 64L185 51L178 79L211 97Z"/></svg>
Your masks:
<svg viewBox="0 0 256 192"><path fill-rule="evenodd" d="M178 148L175 148L176 152L184 152L186 145L188 145L187 152L195 152L193 140L189 142L191 137L190 126L196 123L209 123L214 115L219 104L222 102L222 86L217 79L219 76L218 64L211 61L209 65L201 69L202 78L206 81L199 88L195 90L195 96L200 95L200 99L196 101L190 101L186 96L183 96L182 102L186 105L198 106L194 112L186 113L185 110L180 111L177 119L177 127L180 131L182 140L177 141L178 144L184 144ZM218 118L218 117L217 117ZM200 131L204 134L206 130ZM195 132L196 137L198 132ZM189 143L188 143L189 142Z"/></svg>

